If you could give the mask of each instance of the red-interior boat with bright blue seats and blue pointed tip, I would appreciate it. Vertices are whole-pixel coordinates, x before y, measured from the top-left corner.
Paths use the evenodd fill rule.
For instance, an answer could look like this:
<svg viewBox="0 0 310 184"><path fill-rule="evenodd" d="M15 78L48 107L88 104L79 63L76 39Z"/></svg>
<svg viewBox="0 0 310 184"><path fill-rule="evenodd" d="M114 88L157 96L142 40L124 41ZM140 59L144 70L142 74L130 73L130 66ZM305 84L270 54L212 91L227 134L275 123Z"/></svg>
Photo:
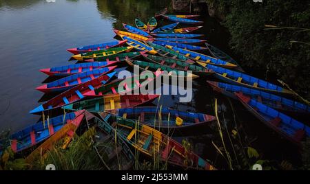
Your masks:
<svg viewBox="0 0 310 184"><path fill-rule="evenodd" d="M68 89L63 93L56 95L55 97L53 97L51 100L48 100L44 104L41 104L37 108L34 108L32 111L30 111L30 113L31 114L42 113L44 111L50 111L52 109L59 108L61 106L65 106L67 104L71 104L73 102L82 100L85 97L84 96L85 93L92 91L94 89L98 89L99 87L102 87L115 75L115 73L116 73L115 71L112 73L108 73L105 76L95 78L94 80L90 80L81 85L77 85L72 89Z"/></svg>

